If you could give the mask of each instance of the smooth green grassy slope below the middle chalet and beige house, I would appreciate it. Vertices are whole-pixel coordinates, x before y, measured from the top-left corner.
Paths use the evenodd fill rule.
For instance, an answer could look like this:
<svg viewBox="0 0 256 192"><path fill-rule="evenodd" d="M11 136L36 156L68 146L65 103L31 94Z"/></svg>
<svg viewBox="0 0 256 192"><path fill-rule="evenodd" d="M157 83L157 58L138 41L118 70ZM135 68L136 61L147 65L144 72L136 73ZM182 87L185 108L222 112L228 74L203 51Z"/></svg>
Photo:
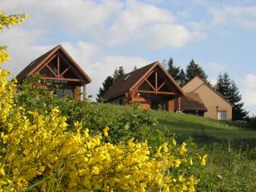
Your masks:
<svg viewBox="0 0 256 192"><path fill-rule="evenodd" d="M131 107L114 104L98 104L98 107L107 109L112 114L126 114L133 110ZM198 144L230 141L234 145L247 142L251 146L256 146L256 131L246 129L246 124L221 122L211 118L159 110L152 110L152 113L157 117L158 129L163 134L172 132L180 139L192 137Z"/></svg>

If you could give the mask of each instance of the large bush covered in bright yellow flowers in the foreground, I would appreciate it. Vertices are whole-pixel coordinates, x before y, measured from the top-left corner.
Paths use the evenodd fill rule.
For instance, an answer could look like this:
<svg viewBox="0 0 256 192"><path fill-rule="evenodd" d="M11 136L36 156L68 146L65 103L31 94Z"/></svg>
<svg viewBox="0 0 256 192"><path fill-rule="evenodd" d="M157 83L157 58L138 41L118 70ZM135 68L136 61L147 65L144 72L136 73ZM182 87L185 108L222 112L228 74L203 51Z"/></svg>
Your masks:
<svg viewBox="0 0 256 192"><path fill-rule="evenodd" d="M14 24L7 18L0 14L2 26ZM8 59L5 48L0 61ZM196 178L183 170L206 156L189 157L185 142L173 138L152 154L147 142L104 142L109 127L94 136L81 122L68 130L56 108L42 115L15 106L8 74L0 68L0 191L195 191Z"/></svg>

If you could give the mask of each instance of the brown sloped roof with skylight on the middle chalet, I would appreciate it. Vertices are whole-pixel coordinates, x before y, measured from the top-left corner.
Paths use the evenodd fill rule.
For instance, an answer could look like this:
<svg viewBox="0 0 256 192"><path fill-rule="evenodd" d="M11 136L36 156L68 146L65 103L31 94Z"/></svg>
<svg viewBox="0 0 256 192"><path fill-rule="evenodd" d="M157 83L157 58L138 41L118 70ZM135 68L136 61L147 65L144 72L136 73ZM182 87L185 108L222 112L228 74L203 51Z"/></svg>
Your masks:
<svg viewBox="0 0 256 192"><path fill-rule="evenodd" d="M178 86L177 82L174 81L174 79L168 74L161 66L160 62L153 62L147 66L143 66L142 68L139 68L138 70L134 70L128 74L124 74L121 78L118 78L117 82L114 83L113 86L110 87L109 90L106 91L105 94L102 95L102 98L110 99L117 97L118 95L124 94L126 91L131 90L140 82L140 80L146 76L151 70L154 69L155 66L159 66L166 76L170 79L171 82L174 83L175 86L177 86L178 90L184 94L180 86Z"/></svg>

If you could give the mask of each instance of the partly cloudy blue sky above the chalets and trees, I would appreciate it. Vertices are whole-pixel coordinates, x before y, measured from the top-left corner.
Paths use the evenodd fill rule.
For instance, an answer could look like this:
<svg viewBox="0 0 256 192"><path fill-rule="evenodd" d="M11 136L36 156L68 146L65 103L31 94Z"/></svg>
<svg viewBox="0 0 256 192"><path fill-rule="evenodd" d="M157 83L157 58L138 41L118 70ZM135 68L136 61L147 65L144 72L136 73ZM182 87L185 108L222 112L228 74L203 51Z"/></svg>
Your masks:
<svg viewBox="0 0 256 192"><path fill-rule="evenodd" d="M192 58L210 82L226 71L246 109L256 114L256 2L163 0L1 0L7 13L30 18L0 36L14 77L30 61L62 44L93 79L95 95L118 66L129 72L174 58L183 68Z"/></svg>

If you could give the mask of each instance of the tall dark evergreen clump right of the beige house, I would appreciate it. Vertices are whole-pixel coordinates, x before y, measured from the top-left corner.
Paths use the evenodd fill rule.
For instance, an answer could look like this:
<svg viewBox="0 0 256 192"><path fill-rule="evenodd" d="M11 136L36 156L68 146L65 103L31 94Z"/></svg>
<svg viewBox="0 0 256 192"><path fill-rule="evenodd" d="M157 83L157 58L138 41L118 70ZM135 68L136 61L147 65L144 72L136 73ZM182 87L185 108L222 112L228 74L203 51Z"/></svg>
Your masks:
<svg viewBox="0 0 256 192"><path fill-rule="evenodd" d="M218 92L231 102L234 107L232 109L232 120L247 120L249 112L243 109L244 103L241 102L242 95L239 93L238 86L227 73L219 74L216 84Z"/></svg>

